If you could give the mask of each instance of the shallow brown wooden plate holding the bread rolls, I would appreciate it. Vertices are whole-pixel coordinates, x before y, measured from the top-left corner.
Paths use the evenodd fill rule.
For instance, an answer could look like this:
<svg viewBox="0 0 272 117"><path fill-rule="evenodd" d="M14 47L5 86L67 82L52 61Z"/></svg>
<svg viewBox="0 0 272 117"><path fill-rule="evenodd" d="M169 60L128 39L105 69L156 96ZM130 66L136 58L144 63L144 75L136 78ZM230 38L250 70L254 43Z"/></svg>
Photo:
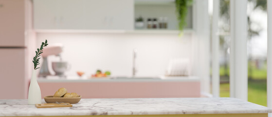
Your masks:
<svg viewBox="0 0 272 117"><path fill-rule="evenodd" d="M78 103L80 101L80 99L81 99L81 96L76 97L76 98L54 98L53 96L44 97L44 100L46 103L55 103L57 101L57 102L75 104L75 103Z"/></svg>

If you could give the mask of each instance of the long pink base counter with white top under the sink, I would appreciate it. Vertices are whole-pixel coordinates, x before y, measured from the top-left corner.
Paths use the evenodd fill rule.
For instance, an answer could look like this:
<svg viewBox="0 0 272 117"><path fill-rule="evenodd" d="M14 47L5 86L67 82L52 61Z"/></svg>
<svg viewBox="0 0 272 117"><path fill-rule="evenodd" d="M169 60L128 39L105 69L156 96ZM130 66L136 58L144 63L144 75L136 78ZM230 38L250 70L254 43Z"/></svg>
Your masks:
<svg viewBox="0 0 272 117"><path fill-rule="evenodd" d="M38 78L42 97L61 87L82 98L199 98L197 77L54 79Z"/></svg>

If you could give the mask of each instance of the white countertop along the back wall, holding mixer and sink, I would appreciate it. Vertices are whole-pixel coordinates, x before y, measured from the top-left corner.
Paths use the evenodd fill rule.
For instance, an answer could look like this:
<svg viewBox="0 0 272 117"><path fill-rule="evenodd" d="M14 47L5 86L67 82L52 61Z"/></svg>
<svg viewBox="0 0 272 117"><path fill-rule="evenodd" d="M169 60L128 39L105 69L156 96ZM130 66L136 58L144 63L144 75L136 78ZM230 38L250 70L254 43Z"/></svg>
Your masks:
<svg viewBox="0 0 272 117"><path fill-rule="evenodd" d="M48 76L47 78L37 78L38 82L192 82L192 81L200 81L198 77L157 77L157 78L79 78L75 77L67 77L67 78L59 78L56 76Z"/></svg>

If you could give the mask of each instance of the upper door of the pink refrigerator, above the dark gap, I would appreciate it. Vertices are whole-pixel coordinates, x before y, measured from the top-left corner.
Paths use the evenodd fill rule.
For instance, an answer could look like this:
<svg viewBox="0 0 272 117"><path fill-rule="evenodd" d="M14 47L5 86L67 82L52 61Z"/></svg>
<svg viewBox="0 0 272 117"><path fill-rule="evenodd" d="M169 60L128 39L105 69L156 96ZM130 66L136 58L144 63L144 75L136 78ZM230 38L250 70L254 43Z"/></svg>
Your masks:
<svg viewBox="0 0 272 117"><path fill-rule="evenodd" d="M0 46L25 47L25 0L0 0Z"/></svg>

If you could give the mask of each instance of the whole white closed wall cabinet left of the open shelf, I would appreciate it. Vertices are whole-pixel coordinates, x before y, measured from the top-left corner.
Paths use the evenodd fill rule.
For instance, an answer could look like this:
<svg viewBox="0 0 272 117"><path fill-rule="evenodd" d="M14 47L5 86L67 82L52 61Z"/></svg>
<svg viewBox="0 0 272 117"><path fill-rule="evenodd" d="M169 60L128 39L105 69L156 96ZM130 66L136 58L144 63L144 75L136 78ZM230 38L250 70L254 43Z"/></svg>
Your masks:
<svg viewBox="0 0 272 117"><path fill-rule="evenodd" d="M34 0L37 30L133 30L133 22L133 0Z"/></svg>

